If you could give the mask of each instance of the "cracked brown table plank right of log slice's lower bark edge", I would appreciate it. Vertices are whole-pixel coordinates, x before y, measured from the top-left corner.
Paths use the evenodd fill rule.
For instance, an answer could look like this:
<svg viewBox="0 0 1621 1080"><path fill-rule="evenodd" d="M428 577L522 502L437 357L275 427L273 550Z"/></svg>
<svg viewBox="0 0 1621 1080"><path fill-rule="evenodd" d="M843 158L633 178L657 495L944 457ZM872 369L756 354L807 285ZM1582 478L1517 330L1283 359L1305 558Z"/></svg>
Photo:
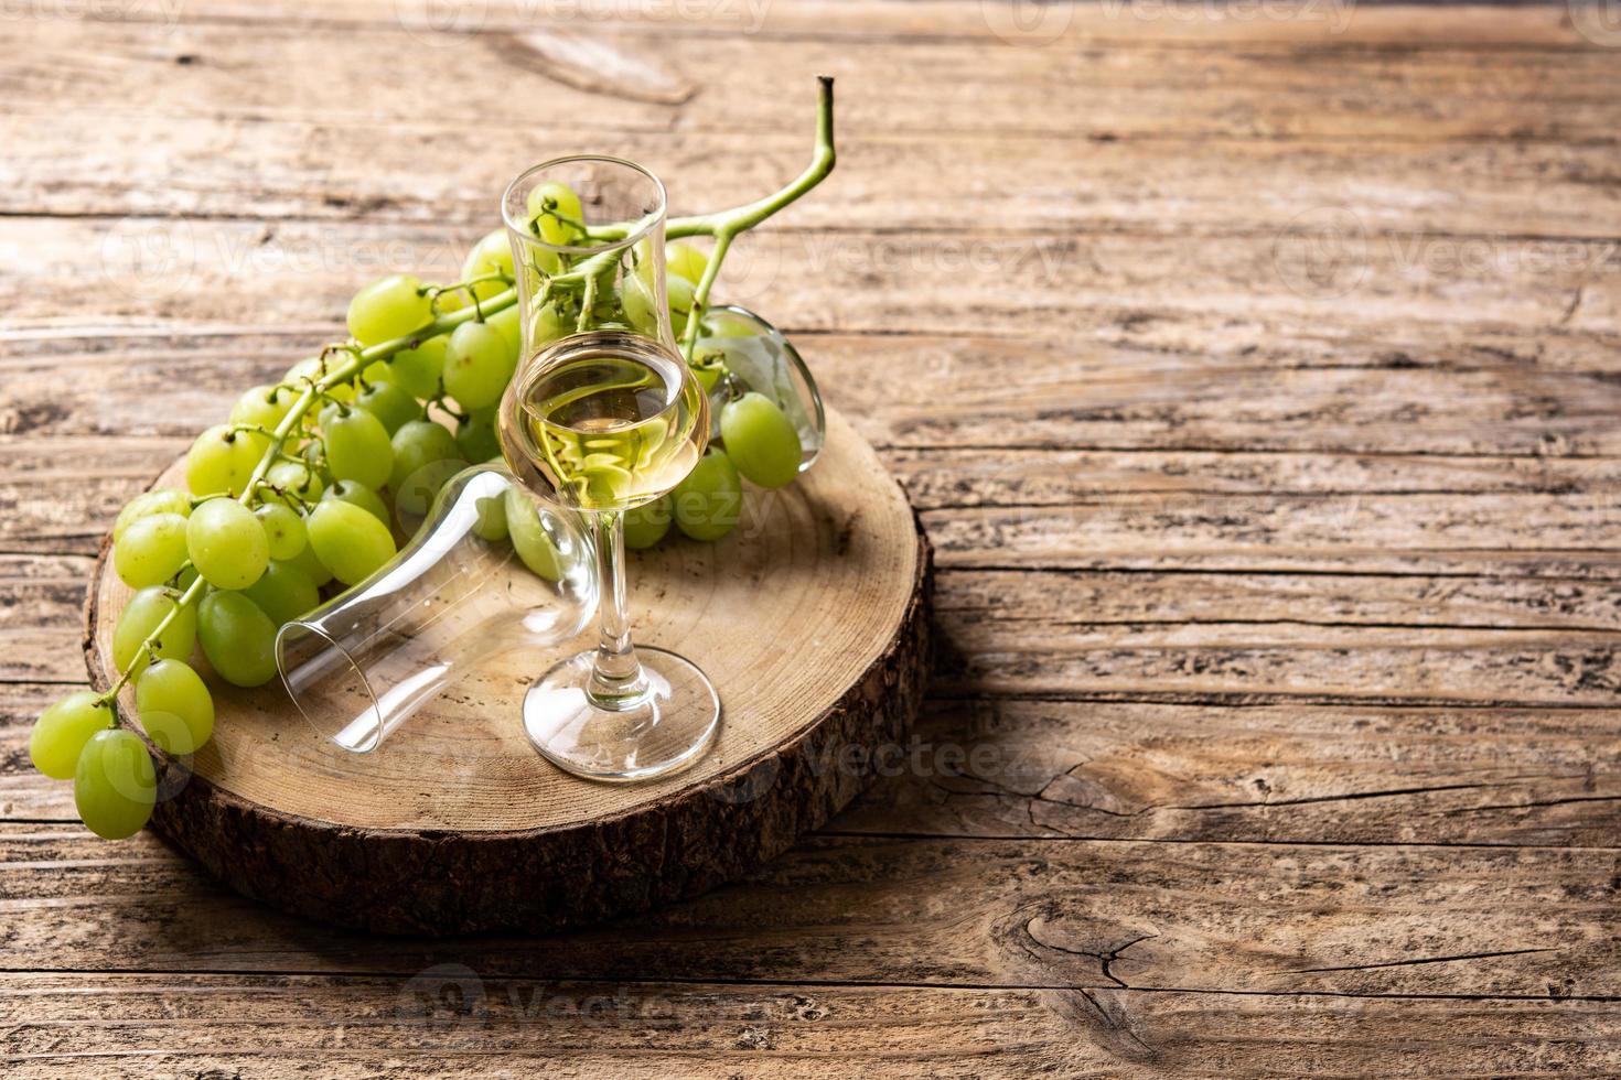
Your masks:
<svg viewBox="0 0 1621 1080"><path fill-rule="evenodd" d="M935 703L833 829L1615 847L1611 709Z"/></svg>

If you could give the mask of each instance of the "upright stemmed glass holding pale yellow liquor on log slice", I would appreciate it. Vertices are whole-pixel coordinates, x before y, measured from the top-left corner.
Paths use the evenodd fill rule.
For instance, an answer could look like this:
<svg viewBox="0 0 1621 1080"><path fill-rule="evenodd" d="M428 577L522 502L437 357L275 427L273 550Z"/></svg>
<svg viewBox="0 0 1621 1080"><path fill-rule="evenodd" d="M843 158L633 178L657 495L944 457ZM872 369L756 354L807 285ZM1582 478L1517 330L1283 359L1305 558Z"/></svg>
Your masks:
<svg viewBox="0 0 1621 1080"><path fill-rule="evenodd" d="M501 402L520 483L590 515L600 638L524 699L524 729L559 767L598 780L676 772L720 729L715 687L691 661L635 648L624 593L624 512L671 491L704 455L708 400L665 303L665 186L614 157L537 165L506 189L524 356Z"/></svg>

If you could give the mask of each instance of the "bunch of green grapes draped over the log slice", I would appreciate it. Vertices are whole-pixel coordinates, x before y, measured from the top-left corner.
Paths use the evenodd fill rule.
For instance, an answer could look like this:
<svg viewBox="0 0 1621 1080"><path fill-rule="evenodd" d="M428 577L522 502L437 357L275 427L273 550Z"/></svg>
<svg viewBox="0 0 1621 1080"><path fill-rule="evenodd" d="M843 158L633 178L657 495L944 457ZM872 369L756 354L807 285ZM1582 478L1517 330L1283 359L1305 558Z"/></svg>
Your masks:
<svg viewBox="0 0 1621 1080"><path fill-rule="evenodd" d="M532 227L550 236L579 199L553 186ZM669 314L678 334L699 306L707 259L666 249ZM113 630L118 682L53 703L34 724L29 756L45 776L71 779L84 824L123 839L152 814L157 769L141 738L118 727L118 691L165 755L196 753L214 730L214 699L193 667L201 653L233 687L276 677L276 633L387 563L397 523L420 521L444 483L468 463L499 457L496 408L519 366L512 254L501 230L467 254L456 285L394 274L349 304L347 342L256 385L225 423L204 431L185 461L185 489L136 495L113 523L112 567L135 589ZM561 295L553 303L561 304ZM597 298L635 317L637 296ZM537 322L540 343L546 322ZM561 337L561 316L551 324ZM692 338L704 327L692 327ZM627 513L626 541L650 547L671 523L715 541L738 521L742 479L781 487L799 471L798 432L768 397L742 385L715 356L697 376L718 400L720 439L673 492ZM554 573L545 538L496 508L486 539L511 539L537 573ZM494 520L503 518L503 520ZM522 518L522 515L517 515Z"/></svg>

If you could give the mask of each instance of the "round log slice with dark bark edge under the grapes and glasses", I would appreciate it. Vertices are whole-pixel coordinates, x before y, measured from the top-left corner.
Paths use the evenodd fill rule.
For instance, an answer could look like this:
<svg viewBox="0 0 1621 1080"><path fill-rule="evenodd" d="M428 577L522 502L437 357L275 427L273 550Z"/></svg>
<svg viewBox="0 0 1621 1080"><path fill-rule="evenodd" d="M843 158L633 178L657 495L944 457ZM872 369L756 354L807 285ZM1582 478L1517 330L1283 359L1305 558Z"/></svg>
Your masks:
<svg viewBox="0 0 1621 1080"><path fill-rule="evenodd" d="M180 486L180 468L157 483ZM199 653L214 738L190 766L160 759L154 827L238 892L387 933L550 931L738 878L895 756L929 669L929 547L849 424L830 413L815 468L746 504L718 544L673 536L631 559L637 640L720 690L721 735L691 771L593 784L530 748L525 688L588 638L488 661L365 756L321 738L279 683L232 688ZM86 602L97 688L130 596L107 551Z"/></svg>

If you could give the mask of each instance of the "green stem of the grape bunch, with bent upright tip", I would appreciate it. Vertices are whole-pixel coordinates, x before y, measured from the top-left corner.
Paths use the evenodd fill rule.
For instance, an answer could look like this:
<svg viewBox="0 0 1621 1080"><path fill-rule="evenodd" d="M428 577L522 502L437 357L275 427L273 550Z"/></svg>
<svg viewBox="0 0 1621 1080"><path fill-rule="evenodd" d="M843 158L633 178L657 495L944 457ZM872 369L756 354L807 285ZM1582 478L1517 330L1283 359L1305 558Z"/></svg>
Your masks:
<svg viewBox="0 0 1621 1080"><path fill-rule="evenodd" d="M687 325L682 342L682 353L687 363L692 363L692 348L697 343L699 321L704 311L708 309L708 293L710 287L715 285L715 279L720 275L721 261L726 257L726 251L731 248L731 241L739 233L746 233L765 219L772 217L788 204L794 202L807 191L815 188L819 183L827 180L828 173L833 172L833 164L836 162L836 154L833 151L833 79L830 76L817 76L817 120L815 120L815 154L810 159L810 165L806 167L798 178L793 180L786 188L765 196L763 199L755 199L754 202L746 202L742 206L731 207L728 210L715 210L713 214L697 214L692 217L674 217L665 225L665 236L669 240L682 240L686 236L712 236L715 240L715 251L710 254L708 264L704 267L704 277L699 280L697 288L692 293L692 311L687 314ZM561 217L561 215L559 215ZM603 228L588 230L593 238L600 240L622 240L629 235L631 225L608 225ZM574 267L574 274L579 274L588 266L590 259ZM506 311L517 303L517 288L507 288L503 293L491 296L490 300L477 300L470 308L462 308L452 311L451 314L438 313L438 300L447 291L459 288L472 290L473 285L490 280L507 280L506 275L490 275L483 274L467 282L459 282L456 285L446 285L434 291L430 311L434 313L433 322L408 334L407 337L394 338L392 342L381 342L368 348L357 348L352 343L334 343L321 351L323 359L329 351L349 353L349 359L334 366L331 371L324 372L319 379L305 377L303 390L298 393L298 400L293 406L287 410L287 415L276 426L274 431L264 432L263 427L254 424L261 432L267 434L271 444L259 455L259 463L254 466L246 484L243 484L242 494L237 497L243 507L251 508L253 500L258 497L261 486L272 487L264 474L269 473L271 465L274 465L282 455L282 447L285 445L289 436L300 429L305 415L310 411L311 405L318 400L324 400L327 392L344 382L355 379L361 371L371 364L389 359L396 353L402 353L408 348L420 348L428 338L439 337L441 334L449 334L464 322L473 319L485 321L490 316ZM556 279L553 279L556 280ZM587 279L590 280L590 279ZM426 291L426 290L425 290ZM588 309L588 304L587 304ZM282 389L297 389L292 384L282 384L276 387L279 393ZM302 500L300 500L302 502ZM162 633L173 623L182 610L196 604L203 597L204 581L199 576L186 591L180 594L175 606L164 615L152 631L146 635L146 640L135 651L136 657L148 656L151 649L157 646L162 640ZM112 712L117 711L117 696L130 683L135 670L139 664L136 661L130 662L130 667L118 675L118 682L109 687L99 698L99 704L113 706ZM110 722L117 725L117 719Z"/></svg>

